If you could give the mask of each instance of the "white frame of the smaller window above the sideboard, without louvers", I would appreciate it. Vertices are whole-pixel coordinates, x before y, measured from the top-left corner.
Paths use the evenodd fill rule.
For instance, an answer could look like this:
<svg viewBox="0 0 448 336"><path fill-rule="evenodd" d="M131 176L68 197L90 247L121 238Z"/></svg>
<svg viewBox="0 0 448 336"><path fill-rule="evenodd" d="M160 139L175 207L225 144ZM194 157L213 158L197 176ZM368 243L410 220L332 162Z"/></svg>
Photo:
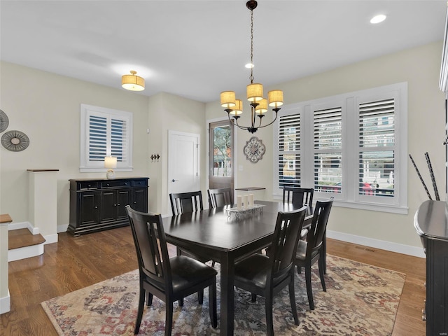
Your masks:
<svg viewBox="0 0 448 336"><path fill-rule="evenodd" d="M89 137L90 137L90 116L106 118L106 156L112 153L112 126L111 119L125 121L125 153L124 160L118 160L117 167L113 170L116 172L132 172L132 113L127 111L119 111L107 109L99 106L80 104L80 172L106 172L104 161L90 160Z"/></svg>

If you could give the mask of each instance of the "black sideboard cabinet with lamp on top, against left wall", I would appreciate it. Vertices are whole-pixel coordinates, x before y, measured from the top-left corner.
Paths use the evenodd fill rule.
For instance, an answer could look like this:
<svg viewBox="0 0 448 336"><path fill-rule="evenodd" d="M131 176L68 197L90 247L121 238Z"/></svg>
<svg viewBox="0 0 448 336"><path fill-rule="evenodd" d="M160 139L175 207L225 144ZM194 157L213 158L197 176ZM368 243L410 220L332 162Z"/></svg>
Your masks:
<svg viewBox="0 0 448 336"><path fill-rule="evenodd" d="M125 207L148 212L148 178L71 179L70 223L73 236L129 225Z"/></svg>

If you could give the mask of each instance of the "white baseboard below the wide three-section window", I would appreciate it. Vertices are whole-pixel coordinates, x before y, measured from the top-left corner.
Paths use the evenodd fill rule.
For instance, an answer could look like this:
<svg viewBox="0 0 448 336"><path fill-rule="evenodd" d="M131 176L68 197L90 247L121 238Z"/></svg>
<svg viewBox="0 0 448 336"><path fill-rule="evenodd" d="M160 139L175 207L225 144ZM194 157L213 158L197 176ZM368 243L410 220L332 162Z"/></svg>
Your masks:
<svg viewBox="0 0 448 336"><path fill-rule="evenodd" d="M384 241L379 239L372 239L362 236L349 235L347 233L330 231L327 230L327 237L342 241L347 241L353 244L359 244L374 248L380 248L381 250L402 253L407 255L412 255L414 257L426 258L425 253L423 252L423 247L415 247L397 243L391 243L391 241Z"/></svg>

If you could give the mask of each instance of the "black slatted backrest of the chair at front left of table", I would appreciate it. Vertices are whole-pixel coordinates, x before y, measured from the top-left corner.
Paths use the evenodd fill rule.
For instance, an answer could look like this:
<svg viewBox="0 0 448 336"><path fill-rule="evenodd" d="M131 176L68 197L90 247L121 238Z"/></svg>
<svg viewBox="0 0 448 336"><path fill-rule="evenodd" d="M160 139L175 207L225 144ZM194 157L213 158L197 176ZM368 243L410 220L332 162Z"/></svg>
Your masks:
<svg viewBox="0 0 448 336"><path fill-rule="evenodd" d="M168 290L172 284L171 267L165 230L160 214L144 214L126 206L134 238L139 272L161 290Z"/></svg>

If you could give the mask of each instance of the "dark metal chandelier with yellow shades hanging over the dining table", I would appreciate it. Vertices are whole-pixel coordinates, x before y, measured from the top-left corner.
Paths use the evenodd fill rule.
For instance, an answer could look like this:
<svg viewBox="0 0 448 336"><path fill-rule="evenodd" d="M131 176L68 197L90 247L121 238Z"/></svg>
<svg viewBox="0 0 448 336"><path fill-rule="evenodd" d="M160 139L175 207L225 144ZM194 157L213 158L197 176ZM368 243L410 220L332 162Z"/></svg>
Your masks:
<svg viewBox="0 0 448 336"><path fill-rule="evenodd" d="M241 130L248 130L248 132L255 133L259 128L266 127L274 123L277 114L280 111L279 106L283 104L283 91L272 90L267 92L267 99L263 97L263 85L260 83L253 83L253 10L257 8L257 1L249 0L246 7L251 10L251 63L248 66L251 68L251 84L247 85L247 100L251 104L251 125L239 125L238 119L243 113L243 103L241 99L235 99L235 91L221 92L221 106L225 107L224 111L228 113L228 118L233 125L239 127ZM267 106L271 106L272 111L275 112L274 120L269 124L261 125L262 118L268 111ZM258 125L255 126L257 117L260 118Z"/></svg>

